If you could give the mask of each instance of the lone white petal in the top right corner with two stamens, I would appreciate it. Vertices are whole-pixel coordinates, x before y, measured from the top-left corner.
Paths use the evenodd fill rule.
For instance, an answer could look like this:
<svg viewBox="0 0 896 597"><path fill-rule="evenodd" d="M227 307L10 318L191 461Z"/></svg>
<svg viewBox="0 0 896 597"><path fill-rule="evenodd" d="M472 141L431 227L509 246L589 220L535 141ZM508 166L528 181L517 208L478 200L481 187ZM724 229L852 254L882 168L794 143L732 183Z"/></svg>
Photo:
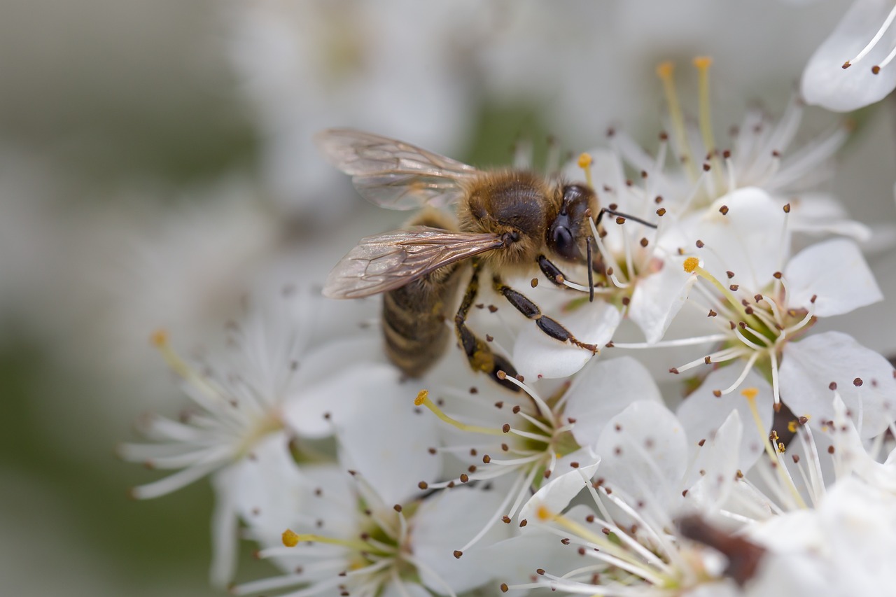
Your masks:
<svg viewBox="0 0 896 597"><path fill-rule="evenodd" d="M801 90L806 103L836 112L849 112L886 97L896 87L892 65L873 74L871 67L882 62L896 45L896 27L884 33L861 62L843 68L874 38L892 9L888 0L857 0L840 24L815 50L803 71Z"/></svg>

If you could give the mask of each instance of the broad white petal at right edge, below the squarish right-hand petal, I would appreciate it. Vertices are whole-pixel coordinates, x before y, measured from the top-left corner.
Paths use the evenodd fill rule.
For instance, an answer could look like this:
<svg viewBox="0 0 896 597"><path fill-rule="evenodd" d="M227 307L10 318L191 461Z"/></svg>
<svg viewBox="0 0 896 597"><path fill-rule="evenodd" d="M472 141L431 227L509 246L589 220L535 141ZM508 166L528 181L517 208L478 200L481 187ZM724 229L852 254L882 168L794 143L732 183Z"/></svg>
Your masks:
<svg viewBox="0 0 896 597"><path fill-rule="evenodd" d="M831 420L831 383L837 385L861 437L874 437L896 420L893 368L874 350L840 332L815 334L784 348L781 400L794 414L815 424Z"/></svg>

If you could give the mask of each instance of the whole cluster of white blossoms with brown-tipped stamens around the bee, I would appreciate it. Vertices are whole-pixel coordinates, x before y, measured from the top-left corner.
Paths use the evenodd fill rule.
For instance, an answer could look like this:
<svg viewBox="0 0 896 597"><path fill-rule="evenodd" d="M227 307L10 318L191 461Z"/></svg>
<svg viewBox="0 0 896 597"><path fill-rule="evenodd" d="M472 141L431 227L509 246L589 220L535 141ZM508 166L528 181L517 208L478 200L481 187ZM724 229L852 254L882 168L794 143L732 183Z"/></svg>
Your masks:
<svg viewBox="0 0 896 597"><path fill-rule="evenodd" d="M375 329L309 342L327 327L310 292L259 298L195 362L159 332L194 406L122 446L177 470L134 497L211 475L212 582L234 577L238 539L280 571L235 594L892 586L896 375L848 334L813 329L883 298L857 244L869 229L819 190L849 124L794 149L794 99L719 142L711 63L694 65L696 125L659 65L657 147L610 131L564 171L611 211L589 219L593 267L507 281L578 343L485 284L467 325L511 355L519 375L500 383L460 347L408 379Z"/></svg>

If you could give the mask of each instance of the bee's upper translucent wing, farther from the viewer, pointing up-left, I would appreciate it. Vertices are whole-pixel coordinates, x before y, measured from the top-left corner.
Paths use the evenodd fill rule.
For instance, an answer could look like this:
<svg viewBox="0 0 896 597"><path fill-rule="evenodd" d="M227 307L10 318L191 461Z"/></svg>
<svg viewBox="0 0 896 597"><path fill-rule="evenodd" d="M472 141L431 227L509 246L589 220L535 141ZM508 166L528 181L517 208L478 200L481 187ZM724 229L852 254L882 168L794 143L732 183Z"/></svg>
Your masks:
<svg viewBox="0 0 896 597"><path fill-rule="evenodd" d="M314 142L351 176L361 196L393 210L453 203L463 195L463 181L478 174L472 166L416 145L350 128L321 131Z"/></svg>

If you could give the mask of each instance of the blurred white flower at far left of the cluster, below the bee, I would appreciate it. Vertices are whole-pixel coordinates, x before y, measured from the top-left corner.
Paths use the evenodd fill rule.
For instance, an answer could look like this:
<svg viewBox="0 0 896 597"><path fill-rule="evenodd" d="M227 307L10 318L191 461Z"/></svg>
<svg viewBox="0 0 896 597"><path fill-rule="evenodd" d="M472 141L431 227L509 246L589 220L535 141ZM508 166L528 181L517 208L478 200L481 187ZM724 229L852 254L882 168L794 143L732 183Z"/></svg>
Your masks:
<svg viewBox="0 0 896 597"><path fill-rule="evenodd" d="M318 406L323 402L320 396L346 392L327 374L335 370L338 358L351 359L357 356L355 351L368 348L364 342L343 342L306 354L308 330L303 324L308 324L313 310L313 300L296 290L285 291L271 304L250 306L245 321L228 326L223 352L195 365L177 355L167 333L153 336L168 365L183 378L184 392L193 405L180 420L148 415L141 421L142 432L154 443L124 444L119 451L125 460L152 469L177 470L134 488L137 498L166 495L212 475L217 494L213 584L225 584L235 567L239 470L259 458L260 446L264 451L279 449L284 455L295 448L302 457L319 458L301 444L290 447L290 439L297 434L332 434L332 425L324 419L325 407ZM370 388L381 383L378 376L383 374L376 373L380 369L365 370ZM386 383L395 378L390 368L386 374Z"/></svg>

